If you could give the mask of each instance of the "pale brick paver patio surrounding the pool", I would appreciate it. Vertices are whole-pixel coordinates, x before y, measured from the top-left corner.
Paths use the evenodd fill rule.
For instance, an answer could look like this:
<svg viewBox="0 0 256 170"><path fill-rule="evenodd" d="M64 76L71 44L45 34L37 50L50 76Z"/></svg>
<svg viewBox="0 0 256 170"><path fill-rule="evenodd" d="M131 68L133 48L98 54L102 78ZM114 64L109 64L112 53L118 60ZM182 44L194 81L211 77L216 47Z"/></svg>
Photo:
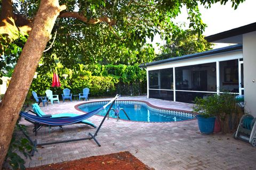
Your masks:
<svg viewBox="0 0 256 170"><path fill-rule="evenodd" d="M147 99L146 97L121 97L120 99L146 100L149 103L167 108L191 111L191 104L172 101ZM95 99L91 99L93 101ZM101 100L101 99L97 99ZM83 101L65 102L41 107L47 114L77 111L74 106ZM93 116L91 122L99 125L102 117ZM87 137L96 129L91 126L76 124L39 130L37 137L31 131L30 137L39 143L53 140L67 140ZM31 160L26 160L26 167L34 167L74 160L84 157L105 155L119 151L130 151L143 163L155 169L256 169L256 148L249 143L235 140L231 134L203 135L199 133L197 120L173 123L140 123L114 119L106 120L98 133L101 147L93 140L85 140L57 145L43 146Z"/></svg>

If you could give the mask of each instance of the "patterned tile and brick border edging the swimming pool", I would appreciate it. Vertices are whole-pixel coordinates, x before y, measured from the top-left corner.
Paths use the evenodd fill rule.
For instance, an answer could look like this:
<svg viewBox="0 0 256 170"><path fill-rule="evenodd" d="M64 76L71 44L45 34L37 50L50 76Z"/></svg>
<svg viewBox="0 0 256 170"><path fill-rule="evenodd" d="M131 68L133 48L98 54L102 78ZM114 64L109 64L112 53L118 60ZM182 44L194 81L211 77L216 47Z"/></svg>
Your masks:
<svg viewBox="0 0 256 170"><path fill-rule="evenodd" d="M79 106L81 106L81 105L92 106L92 105L99 105L99 104L103 105L103 104L107 104L108 101L110 101L110 100L89 101L89 102L86 102L86 103L81 103L81 104L76 105L75 109L77 111L84 112L79 108ZM160 113L166 113L166 114L176 115L176 116L180 115L180 116L183 116L183 117L190 117L190 118L193 117L190 120L184 120L184 121L178 121L178 122L185 122L185 121L195 120L196 115L197 115L197 113L195 113L195 112L154 106L154 105L150 104L148 101L143 101L143 100L117 100L117 102L119 102L119 101L122 101L122 103L124 103L124 104L134 104L134 103L135 104L143 104L143 105L146 105L149 109L151 109L151 111L156 111L156 112L160 112ZM84 113L87 113L87 112L84 112ZM97 116L100 116L100 115L97 115ZM116 118L114 118L114 119L116 119ZM121 119L121 120L122 121L128 121L128 122L143 122L143 121L129 121L129 120L123 120L123 119ZM143 123L174 123L174 122L143 122Z"/></svg>

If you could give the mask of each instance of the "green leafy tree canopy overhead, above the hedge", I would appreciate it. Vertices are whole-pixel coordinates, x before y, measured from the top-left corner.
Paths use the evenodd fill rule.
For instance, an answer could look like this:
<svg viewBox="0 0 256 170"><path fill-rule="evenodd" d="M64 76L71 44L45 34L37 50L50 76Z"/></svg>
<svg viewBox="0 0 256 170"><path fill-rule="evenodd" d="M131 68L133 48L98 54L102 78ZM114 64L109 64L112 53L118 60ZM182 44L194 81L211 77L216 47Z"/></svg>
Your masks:
<svg viewBox="0 0 256 170"><path fill-rule="evenodd" d="M5 2L11 1L2 1L1 16L4 16L3 13L8 7ZM210 7L212 3L217 2L225 4L227 0L61 1L67 8L55 22L52 38L47 45L51 48L44 53L43 61L46 66L52 66L54 57L57 57L66 67L73 67L77 63L149 62L155 54L153 47L147 44L146 38L153 39L156 33L165 38L169 35L180 35L180 27L172 19L179 15L182 6L186 6L188 10L190 28L200 35L205 29L205 24L201 20L198 3ZM241 1L231 2L233 6L237 6ZM17 27L13 29L13 25L10 25L9 28L19 30L26 36L33 27L38 7L39 1L14 0L9 16L13 16L14 26ZM0 31L7 33L7 43L20 37L17 32L10 32L3 27L0 27ZM5 47L2 48L2 54L10 49L9 46L2 46ZM21 44L18 46L22 47Z"/></svg>

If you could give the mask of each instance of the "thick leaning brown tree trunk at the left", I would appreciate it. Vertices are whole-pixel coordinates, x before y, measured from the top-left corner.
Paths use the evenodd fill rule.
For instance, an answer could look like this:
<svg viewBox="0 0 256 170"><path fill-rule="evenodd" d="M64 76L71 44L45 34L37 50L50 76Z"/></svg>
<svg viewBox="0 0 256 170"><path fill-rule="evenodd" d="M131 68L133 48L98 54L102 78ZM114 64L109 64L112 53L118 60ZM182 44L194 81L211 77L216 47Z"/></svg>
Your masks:
<svg viewBox="0 0 256 170"><path fill-rule="evenodd" d="M9 87L0 106L0 169L10 145L15 123L26 99L37 64L60 11L66 6L58 0L42 0L36 15L34 27L15 66Z"/></svg>

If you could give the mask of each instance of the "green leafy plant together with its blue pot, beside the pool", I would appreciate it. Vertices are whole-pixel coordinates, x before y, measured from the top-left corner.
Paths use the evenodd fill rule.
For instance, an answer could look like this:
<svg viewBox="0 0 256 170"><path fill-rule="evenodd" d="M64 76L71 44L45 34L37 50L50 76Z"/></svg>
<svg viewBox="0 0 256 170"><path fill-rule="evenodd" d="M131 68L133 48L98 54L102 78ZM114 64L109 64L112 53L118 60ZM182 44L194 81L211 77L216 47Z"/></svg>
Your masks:
<svg viewBox="0 0 256 170"><path fill-rule="evenodd" d="M201 133L211 134L214 130L216 116L220 113L220 102L217 94L207 98L196 98L193 110L198 113L198 127Z"/></svg>

